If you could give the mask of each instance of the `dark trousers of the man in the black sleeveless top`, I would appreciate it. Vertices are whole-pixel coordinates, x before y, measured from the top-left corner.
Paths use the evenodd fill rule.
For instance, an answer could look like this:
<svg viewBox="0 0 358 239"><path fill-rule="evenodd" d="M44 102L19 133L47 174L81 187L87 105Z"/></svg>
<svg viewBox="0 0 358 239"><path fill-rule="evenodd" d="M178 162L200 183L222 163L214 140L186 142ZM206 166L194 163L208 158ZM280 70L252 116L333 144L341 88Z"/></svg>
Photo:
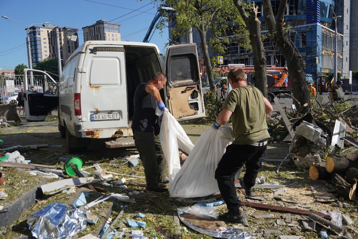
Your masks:
<svg viewBox="0 0 358 239"><path fill-rule="evenodd" d="M155 190L159 187L158 183L167 180L165 174L168 169L159 135L155 136L154 132L133 130L133 138L144 167L147 189Z"/></svg>

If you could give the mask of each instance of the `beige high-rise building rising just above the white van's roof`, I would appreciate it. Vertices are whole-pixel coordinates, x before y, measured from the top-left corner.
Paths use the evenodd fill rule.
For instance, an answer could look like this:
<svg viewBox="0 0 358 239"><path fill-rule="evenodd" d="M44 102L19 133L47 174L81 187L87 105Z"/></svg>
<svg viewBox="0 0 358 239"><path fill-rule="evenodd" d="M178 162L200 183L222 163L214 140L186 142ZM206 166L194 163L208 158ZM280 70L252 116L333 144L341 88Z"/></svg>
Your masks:
<svg viewBox="0 0 358 239"><path fill-rule="evenodd" d="M109 23L106 20L98 20L95 24L83 27L83 42L88 40L111 40L120 41L121 33L119 30L121 24Z"/></svg>

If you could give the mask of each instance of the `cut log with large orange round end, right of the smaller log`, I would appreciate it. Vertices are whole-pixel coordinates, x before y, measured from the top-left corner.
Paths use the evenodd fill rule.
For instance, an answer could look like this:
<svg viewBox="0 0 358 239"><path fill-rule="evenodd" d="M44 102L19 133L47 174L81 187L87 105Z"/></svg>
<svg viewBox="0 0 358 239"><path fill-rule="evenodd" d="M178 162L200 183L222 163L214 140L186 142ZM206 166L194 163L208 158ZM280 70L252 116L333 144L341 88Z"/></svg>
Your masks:
<svg viewBox="0 0 358 239"><path fill-rule="evenodd" d="M358 168L358 161L353 161L337 154L332 154L327 157L327 172L345 175L349 168Z"/></svg>

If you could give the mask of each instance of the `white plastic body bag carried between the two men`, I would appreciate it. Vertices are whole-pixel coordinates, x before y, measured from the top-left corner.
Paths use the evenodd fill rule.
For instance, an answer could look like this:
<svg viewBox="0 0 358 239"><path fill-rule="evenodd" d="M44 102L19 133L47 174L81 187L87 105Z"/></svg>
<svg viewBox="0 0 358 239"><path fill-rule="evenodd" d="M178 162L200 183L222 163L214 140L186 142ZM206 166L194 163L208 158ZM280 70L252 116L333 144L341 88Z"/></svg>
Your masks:
<svg viewBox="0 0 358 239"><path fill-rule="evenodd" d="M215 170L232 139L233 131L229 126L205 130L180 168L178 147L183 149L192 143L182 126L166 110L160 129L160 143L168 161L170 197L204 197L219 192Z"/></svg>

